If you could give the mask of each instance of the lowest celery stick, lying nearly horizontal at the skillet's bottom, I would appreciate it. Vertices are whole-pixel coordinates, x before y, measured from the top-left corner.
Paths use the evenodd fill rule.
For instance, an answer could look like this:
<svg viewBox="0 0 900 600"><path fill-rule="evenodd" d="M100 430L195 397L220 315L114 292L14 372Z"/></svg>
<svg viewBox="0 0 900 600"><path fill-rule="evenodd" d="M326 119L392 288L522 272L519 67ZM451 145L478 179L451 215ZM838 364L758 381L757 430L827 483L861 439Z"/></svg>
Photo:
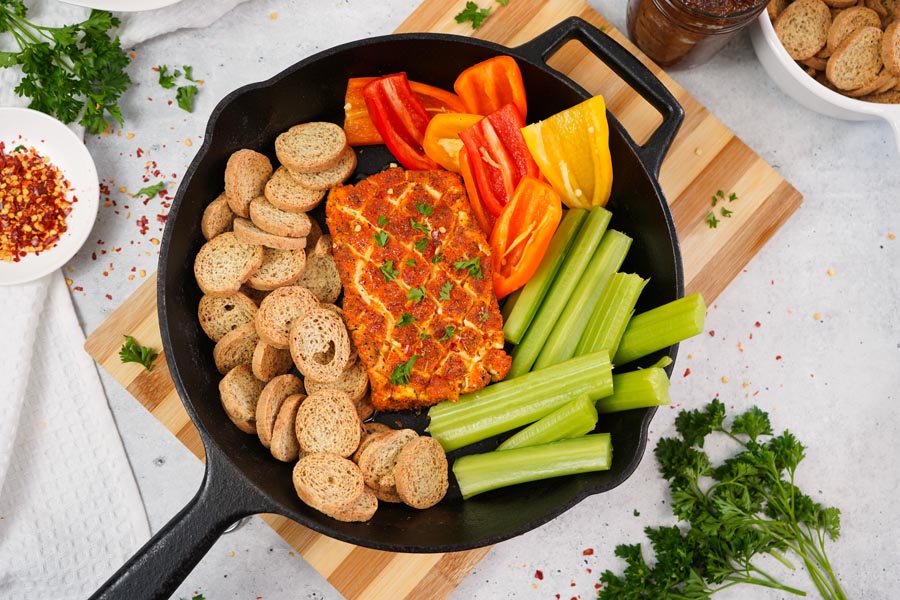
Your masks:
<svg viewBox="0 0 900 600"><path fill-rule="evenodd" d="M497 488L563 475L605 471L612 464L608 433L592 433L540 446L469 454L453 463L463 498Z"/></svg>

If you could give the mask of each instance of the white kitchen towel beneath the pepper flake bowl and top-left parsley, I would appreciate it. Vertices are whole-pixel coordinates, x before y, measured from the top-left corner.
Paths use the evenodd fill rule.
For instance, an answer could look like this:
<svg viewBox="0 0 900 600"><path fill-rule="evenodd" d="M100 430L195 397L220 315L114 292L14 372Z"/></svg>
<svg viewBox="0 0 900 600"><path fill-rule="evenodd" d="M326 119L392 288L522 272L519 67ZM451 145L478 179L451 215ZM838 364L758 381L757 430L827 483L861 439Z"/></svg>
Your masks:
<svg viewBox="0 0 900 600"><path fill-rule="evenodd" d="M205 27L243 1L122 13L122 46ZM88 13L56 0L26 4L44 25ZM12 49L3 37L0 50ZM0 106L27 104L13 93L20 77L0 69ZM0 598L81 600L150 530L62 272L0 286L0 336Z"/></svg>

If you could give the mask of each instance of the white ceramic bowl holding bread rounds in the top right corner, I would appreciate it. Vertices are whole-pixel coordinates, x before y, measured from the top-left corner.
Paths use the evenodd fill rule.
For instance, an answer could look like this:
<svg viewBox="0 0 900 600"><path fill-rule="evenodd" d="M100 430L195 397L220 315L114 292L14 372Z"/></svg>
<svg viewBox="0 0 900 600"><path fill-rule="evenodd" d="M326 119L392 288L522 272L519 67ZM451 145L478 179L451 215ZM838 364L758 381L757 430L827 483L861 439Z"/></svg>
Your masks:
<svg viewBox="0 0 900 600"><path fill-rule="evenodd" d="M788 96L823 115L849 121L883 119L894 130L900 152L900 104L877 104L833 92L810 77L781 45L766 11L750 29L753 50L769 77Z"/></svg>

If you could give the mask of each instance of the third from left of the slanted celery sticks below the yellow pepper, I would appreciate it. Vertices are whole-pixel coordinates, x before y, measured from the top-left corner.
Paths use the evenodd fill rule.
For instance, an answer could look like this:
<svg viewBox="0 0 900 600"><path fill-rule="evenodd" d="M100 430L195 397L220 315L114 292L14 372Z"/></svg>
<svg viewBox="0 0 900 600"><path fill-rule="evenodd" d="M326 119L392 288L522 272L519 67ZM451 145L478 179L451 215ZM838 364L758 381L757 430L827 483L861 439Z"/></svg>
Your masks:
<svg viewBox="0 0 900 600"><path fill-rule="evenodd" d="M575 346L591 318L594 306L603 295L610 278L622 266L630 247L631 238L624 233L613 229L606 232L562 314L556 320L553 331L544 342L533 368L543 369L575 356Z"/></svg>

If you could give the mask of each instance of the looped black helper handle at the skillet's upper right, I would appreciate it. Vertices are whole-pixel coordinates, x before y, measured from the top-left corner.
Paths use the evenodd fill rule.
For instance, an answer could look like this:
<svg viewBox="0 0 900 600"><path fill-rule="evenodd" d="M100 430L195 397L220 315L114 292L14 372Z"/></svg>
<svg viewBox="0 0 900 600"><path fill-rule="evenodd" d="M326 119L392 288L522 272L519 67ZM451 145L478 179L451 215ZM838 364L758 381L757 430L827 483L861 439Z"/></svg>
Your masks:
<svg viewBox="0 0 900 600"><path fill-rule="evenodd" d="M546 63L563 44L571 40L578 40L584 44L594 56L603 61L662 115L662 123L647 143L636 147L641 161L658 177L663 158L684 120L684 109L675 96L640 60L607 34L579 17L569 17L533 40L515 48L514 52L532 62Z"/></svg>

